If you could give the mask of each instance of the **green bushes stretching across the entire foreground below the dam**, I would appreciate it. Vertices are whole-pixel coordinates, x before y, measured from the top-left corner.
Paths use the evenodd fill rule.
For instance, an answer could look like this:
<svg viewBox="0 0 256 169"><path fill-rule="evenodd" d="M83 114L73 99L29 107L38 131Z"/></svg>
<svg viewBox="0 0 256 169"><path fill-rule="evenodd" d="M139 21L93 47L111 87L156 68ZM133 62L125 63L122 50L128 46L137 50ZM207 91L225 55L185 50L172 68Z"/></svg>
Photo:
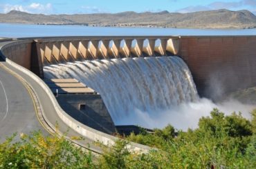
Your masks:
<svg viewBox="0 0 256 169"><path fill-rule="evenodd" d="M127 140L154 147L147 154L129 152L128 141L104 148L102 156L73 146L64 137L43 137L40 132L21 135L20 141L0 144L0 168L255 168L256 110L252 120L214 109L188 132L172 126L141 130Z"/></svg>

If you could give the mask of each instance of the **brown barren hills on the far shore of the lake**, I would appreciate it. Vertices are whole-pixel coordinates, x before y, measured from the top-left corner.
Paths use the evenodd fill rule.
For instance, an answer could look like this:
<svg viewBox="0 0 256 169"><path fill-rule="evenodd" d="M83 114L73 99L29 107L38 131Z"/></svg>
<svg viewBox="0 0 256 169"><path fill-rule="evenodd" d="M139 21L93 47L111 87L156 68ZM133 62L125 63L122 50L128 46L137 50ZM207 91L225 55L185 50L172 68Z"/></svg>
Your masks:
<svg viewBox="0 0 256 169"><path fill-rule="evenodd" d="M0 22L120 27L256 28L256 17L248 10L209 10L185 14L162 11L51 15L12 10L7 14L0 14Z"/></svg>

